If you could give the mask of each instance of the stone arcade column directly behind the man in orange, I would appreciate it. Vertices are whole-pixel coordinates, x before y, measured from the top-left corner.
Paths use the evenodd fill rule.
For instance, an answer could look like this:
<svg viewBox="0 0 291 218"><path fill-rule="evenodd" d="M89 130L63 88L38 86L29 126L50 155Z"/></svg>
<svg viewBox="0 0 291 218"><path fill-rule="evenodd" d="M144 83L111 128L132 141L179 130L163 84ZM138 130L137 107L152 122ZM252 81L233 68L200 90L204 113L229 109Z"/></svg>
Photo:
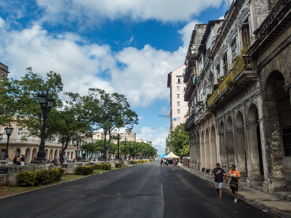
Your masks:
<svg viewBox="0 0 291 218"><path fill-rule="evenodd" d="M246 159L245 159L245 143L244 129L235 129L235 151L236 151L236 169L239 171L241 178L239 181L246 181Z"/></svg>

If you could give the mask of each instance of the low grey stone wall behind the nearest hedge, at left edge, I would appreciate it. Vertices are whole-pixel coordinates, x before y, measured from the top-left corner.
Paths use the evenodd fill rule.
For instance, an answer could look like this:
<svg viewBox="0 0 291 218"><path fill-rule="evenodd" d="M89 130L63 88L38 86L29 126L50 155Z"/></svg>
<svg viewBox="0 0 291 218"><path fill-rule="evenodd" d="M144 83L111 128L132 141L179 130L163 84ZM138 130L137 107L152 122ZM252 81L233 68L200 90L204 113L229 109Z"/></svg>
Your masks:
<svg viewBox="0 0 291 218"><path fill-rule="evenodd" d="M54 169L54 164L28 164L28 165L1 165L0 170L6 170L7 173L0 174L0 186L9 185L9 186L18 186L16 180L16 174L22 172L36 171L42 169Z"/></svg>

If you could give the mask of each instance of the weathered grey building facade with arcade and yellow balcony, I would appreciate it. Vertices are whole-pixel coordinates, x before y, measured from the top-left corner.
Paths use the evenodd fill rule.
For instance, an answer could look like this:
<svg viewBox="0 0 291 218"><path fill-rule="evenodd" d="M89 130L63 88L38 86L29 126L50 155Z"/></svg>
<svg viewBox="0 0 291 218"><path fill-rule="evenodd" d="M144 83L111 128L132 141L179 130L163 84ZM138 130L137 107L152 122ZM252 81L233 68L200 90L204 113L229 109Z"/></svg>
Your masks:
<svg viewBox="0 0 291 218"><path fill-rule="evenodd" d="M235 164L246 186L270 194L286 190L290 16L290 1L237 0L224 20L208 22L195 43L197 82L185 93L192 168L208 172L216 162L226 170Z"/></svg>

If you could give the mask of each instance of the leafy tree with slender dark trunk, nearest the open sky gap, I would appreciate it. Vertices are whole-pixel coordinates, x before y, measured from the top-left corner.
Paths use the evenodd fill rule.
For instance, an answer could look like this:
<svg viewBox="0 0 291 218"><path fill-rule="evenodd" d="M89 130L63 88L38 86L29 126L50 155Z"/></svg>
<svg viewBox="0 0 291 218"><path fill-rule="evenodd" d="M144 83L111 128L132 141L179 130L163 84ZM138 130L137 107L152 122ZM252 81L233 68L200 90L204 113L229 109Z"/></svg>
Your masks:
<svg viewBox="0 0 291 218"><path fill-rule="evenodd" d="M91 113L91 120L95 124L95 128L108 128L107 151L110 151L110 141L112 139L111 132L126 128L130 131L134 124L138 124L137 114L130 109L130 105L124 95L118 93L106 93L104 90L91 88L86 99L86 108Z"/></svg>

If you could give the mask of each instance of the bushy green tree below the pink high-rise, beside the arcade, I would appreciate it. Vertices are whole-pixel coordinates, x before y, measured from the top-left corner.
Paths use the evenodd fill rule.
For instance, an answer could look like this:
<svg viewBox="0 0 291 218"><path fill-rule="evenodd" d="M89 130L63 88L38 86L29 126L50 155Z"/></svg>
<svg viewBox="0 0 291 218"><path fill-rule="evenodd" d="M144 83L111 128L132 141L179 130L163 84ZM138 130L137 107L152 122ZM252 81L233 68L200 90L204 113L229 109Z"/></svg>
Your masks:
<svg viewBox="0 0 291 218"><path fill-rule="evenodd" d="M170 131L170 135L166 140L169 151L177 156L189 156L189 135L185 131L184 123L176 126L174 131Z"/></svg>

